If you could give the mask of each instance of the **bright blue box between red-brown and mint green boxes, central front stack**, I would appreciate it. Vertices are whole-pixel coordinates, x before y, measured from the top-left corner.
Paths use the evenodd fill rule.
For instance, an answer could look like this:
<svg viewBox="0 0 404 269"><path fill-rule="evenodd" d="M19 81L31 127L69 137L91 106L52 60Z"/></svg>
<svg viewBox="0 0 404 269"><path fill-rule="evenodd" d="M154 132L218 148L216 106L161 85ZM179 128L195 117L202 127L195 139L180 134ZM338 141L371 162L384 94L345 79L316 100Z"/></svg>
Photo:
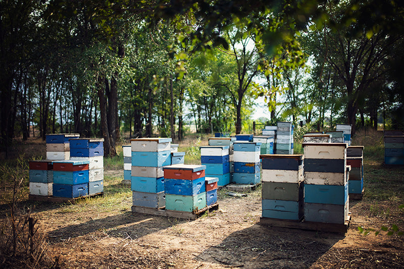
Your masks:
<svg viewBox="0 0 404 269"><path fill-rule="evenodd" d="M166 194L197 195L206 191L205 177L194 180L189 179L165 179L164 191Z"/></svg>

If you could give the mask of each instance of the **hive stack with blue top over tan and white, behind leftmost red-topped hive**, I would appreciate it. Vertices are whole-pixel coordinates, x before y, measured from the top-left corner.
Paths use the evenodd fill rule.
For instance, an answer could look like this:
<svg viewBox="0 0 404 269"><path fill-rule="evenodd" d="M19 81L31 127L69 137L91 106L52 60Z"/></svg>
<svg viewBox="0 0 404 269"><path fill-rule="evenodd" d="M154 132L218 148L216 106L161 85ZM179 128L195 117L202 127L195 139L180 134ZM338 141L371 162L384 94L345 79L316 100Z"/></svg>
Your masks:
<svg viewBox="0 0 404 269"><path fill-rule="evenodd" d="M47 134L46 159L64 160L70 158L69 139L79 138L80 134Z"/></svg>

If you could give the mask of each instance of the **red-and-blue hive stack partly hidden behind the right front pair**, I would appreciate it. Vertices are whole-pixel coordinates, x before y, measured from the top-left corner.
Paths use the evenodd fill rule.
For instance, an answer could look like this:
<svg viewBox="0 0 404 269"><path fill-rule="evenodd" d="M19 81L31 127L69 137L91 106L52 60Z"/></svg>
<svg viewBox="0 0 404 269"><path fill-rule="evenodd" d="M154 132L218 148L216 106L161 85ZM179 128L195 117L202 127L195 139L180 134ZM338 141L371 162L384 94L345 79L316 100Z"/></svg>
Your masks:
<svg viewBox="0 0 404 269"><path fill-rule="evenodd" d="M346 165L350 166L348 194L362 194L363 190L363 149L364 146L348 146Z"/></svg>

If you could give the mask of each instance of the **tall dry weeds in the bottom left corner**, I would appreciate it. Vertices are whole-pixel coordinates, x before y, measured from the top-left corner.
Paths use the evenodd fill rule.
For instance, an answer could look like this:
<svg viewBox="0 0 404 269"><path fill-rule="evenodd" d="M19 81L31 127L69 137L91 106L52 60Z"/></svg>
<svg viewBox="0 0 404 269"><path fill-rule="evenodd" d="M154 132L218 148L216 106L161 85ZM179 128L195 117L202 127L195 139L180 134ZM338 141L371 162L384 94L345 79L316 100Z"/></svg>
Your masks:
<svg viewBox="0 0 404 269"><path fill-rule="evenodd" d="M48 255L45 234L39 230L38 219L31 216L31 208L17 206L28 191L28 163L24 155L14 165L0 167L0 175L7 194L2 202L10 207L0 226L0 268L59 267L59 259Z"/></svg>

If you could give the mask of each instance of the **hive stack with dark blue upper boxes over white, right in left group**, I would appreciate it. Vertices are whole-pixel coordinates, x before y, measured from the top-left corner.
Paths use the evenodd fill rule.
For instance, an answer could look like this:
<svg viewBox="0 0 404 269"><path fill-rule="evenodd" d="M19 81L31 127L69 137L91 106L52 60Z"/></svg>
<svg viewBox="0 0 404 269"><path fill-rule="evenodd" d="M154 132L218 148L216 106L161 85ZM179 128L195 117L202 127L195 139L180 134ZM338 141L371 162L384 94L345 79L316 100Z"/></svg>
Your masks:
<svg viewBox="0 0 404 269"><path fill-rule="evenodd" d="M88 194L104 191L104 138L70 139L70 160L88 161Z"/></svg>

